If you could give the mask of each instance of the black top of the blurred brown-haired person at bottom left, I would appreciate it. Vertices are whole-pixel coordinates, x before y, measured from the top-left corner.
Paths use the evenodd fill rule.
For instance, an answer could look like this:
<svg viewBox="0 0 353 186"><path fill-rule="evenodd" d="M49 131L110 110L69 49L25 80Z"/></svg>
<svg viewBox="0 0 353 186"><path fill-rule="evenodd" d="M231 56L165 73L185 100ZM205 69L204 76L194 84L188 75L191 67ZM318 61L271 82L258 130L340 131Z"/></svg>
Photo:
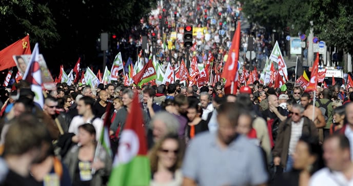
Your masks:
<svg viewBox="0 0 353 186"><path fill-rule="evenodd" d="M22 177L21 175L9 170L5 180L0 184L1 186L36 186L36 182L30 177Z"/></svg>

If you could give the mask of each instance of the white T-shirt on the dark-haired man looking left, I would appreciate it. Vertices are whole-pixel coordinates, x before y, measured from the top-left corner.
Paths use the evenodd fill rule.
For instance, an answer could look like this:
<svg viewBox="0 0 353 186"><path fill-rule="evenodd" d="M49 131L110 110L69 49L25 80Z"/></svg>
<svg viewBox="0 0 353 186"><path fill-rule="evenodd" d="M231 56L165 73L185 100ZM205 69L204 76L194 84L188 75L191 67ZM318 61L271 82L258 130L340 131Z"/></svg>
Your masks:
<svg viewBox="0 0 353 186"><path fill-rule="evenodd" d="M79 134L79 127L85 123L91 123L95 129L95 138L97 141L101 137L102 129L103 129L103 120L101 118L95 118L92 122L91 119L84 120L82 116L75 116L72 118L69 132L74 134Z"/></svg>

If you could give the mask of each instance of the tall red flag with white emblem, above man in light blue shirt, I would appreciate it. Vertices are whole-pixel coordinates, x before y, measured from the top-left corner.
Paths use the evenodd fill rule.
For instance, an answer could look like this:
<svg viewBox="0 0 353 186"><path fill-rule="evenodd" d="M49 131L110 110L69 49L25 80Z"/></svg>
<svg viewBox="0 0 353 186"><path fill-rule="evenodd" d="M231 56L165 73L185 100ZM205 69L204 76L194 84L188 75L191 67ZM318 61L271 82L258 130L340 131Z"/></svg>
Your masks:
<svg viewBox="0 0 353 186"><path fill-rule="evenodd" d="M228 52L228 58L222 72L222 77L226 79L226 84L224 86L224 92L226 94L237 93L238 76L239 76L238 74L239 45L240 45L240 21L238 21L237 30L234 33L231 47ZM231 90L232 82L233 82L233 90Z"/></svg>

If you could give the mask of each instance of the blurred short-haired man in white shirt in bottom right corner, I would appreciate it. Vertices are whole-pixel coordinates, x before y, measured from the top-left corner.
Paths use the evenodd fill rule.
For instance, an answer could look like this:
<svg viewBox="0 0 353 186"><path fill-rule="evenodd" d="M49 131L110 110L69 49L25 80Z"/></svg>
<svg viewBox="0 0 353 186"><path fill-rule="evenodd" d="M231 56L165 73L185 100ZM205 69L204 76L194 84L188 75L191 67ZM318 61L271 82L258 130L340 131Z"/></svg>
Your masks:
<svg viewBox="0 0 353 186"><path fill-rule="evenodd" d="M316 172L310 186L353 185L353 163L350 159L349 140L342 134L329 136L323 145L326 168Z"/></svg>

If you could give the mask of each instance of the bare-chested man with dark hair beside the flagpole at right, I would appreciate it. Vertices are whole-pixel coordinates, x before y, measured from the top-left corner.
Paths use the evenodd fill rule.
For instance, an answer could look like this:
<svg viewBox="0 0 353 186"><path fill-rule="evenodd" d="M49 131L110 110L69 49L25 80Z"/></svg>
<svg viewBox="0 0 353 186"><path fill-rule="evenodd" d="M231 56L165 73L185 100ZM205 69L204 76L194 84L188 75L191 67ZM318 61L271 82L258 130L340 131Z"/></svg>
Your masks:
<svg viewBox="0 0 353 186"><path fill-rule="evenodd" d="M312 120L315 123L316 128L319 129L326 126L325 117L322 115L321 110L317 107L312 106L309 93L304 92L302 94L302 97L300 98L300 103L305 109L303 113L304 116ZM314 112L312 112L313 109L315 109ZM314 114L312 115L312 113Z"/></svg>

